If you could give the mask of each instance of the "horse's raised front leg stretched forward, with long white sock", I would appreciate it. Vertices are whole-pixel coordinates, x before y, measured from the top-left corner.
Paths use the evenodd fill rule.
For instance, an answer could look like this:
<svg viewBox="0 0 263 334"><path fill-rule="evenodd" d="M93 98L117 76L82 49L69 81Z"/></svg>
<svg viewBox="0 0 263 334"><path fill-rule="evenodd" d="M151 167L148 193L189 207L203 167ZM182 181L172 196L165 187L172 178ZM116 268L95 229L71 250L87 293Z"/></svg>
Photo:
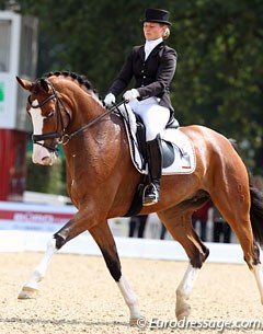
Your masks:
<svg viewBox="0 0 263 334"><path fill-rule="evenodd" d="M39 264L35 267L28 280L23 286L19 299L31 299L36 297L39 291L38 283L44 278L53 255L66 242L87 230L87 226L83 223L83 219L87 217L85 215L87 212L84 211L78 211L68 223L53 235L53 239L47 243L46 252Z"/></svg>

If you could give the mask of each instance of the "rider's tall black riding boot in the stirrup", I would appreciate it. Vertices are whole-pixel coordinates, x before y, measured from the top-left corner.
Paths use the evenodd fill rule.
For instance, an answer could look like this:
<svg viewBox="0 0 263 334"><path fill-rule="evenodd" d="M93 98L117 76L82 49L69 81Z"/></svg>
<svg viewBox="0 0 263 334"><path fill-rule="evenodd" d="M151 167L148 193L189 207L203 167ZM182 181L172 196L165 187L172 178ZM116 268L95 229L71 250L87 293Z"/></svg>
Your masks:
<svg viewBox="0 0 263 334"><path fill-rule="evenodd" d="M159 135L156 139L147 141L147 159L150 183L144 191L144 206L153 205L159 200L160 178L162 173L162 149Z"/></svg>

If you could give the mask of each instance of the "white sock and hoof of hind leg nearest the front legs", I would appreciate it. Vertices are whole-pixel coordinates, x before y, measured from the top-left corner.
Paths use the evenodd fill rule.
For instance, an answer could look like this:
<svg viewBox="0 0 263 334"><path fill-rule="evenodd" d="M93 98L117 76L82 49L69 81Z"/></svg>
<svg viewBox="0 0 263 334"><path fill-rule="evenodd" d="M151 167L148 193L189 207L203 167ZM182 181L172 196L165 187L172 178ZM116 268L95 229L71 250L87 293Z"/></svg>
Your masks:
<svg viewBox="0 0 263 334"><path fill-rule="evenodd" d="M175 314L178 319L187 318L190 315L191 307L186 302L192 292L194 283L199 273L198 268L194 268L191 264L188 265L182 281L176 289L176 308Z"/></svg>

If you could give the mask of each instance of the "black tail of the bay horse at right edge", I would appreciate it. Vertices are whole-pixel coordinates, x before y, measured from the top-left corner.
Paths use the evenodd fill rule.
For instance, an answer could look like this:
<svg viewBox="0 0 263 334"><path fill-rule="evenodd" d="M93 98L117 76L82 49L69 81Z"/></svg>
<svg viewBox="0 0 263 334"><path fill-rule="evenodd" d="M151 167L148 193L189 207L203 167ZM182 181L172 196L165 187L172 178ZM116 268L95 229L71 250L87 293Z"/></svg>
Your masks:
<svg viewBox="0 0 263 334"><path fill-rule="evenodd" d="M229 139L230 143L232 145L233 149L240 156L238 151L237 142L233 139ZM247 169L248 171L248 169ZM263 247L263 193L253 187L252 180L250 173L249 175L249 186L250 186L250 220L252 226L252 231L254 235L254 240Z"/></svg>

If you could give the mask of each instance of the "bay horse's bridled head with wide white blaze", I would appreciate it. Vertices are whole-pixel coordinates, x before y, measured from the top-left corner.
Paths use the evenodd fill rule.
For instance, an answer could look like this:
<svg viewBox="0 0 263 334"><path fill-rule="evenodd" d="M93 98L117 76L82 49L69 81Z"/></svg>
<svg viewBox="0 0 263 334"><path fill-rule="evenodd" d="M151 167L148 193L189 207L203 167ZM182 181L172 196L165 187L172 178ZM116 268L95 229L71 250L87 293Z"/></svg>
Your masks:
<svg viewBox="0 0 263 334"><path fill-rule="evenodd" d="M52 165L57 159L57 146L64 139L69 113L50 81L38 79L32 82L18 77L16 80L31 92L26 111L33 124L32 160L34 163Z"/></svg>

